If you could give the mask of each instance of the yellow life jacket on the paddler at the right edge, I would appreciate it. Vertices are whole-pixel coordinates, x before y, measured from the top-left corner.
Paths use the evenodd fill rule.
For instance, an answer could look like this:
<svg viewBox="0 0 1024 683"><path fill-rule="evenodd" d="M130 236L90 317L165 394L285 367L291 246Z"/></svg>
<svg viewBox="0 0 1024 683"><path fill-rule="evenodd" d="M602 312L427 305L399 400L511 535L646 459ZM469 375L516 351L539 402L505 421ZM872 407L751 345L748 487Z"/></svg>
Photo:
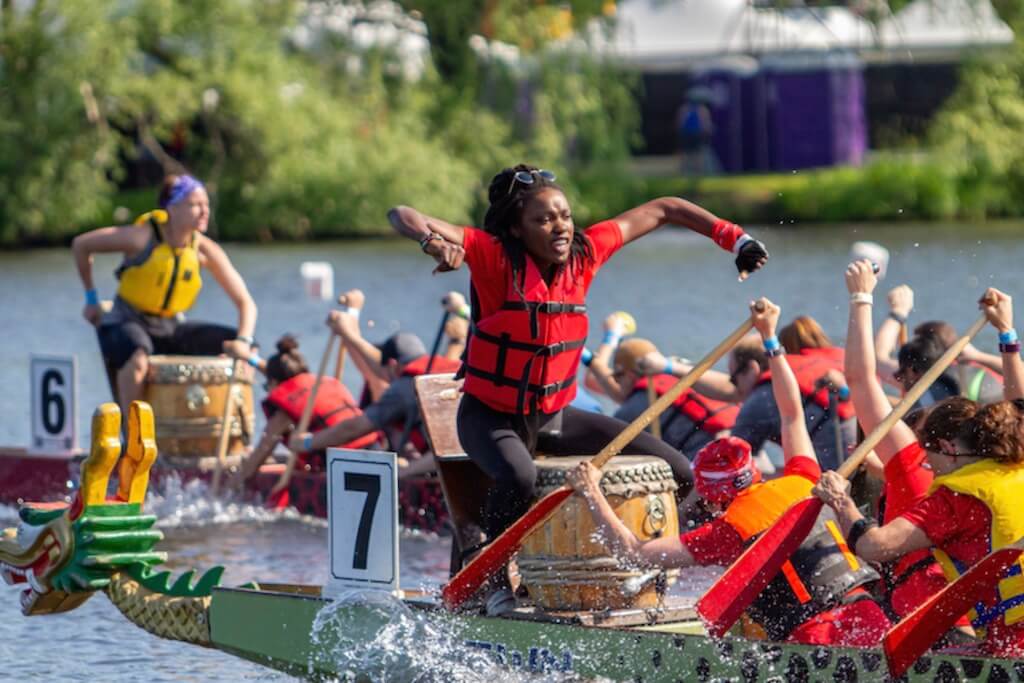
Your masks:
<svg viewBox="0 0 1024 683"><path fill-rule="evenodd" d="M1024 537L1024 464L1008 465L985 459L962 467L955 472L936 477L931 490L945 486L957 494L973 496L992 514L989 552L998 550ZM963 562L936 548L932 551L950 582L969 568ZM1007 570L998 585L998 603L992 606L978 603L970 611L971 623L983 629L998 617L1006 624L1024 621L1024 557Z"/></svg>

